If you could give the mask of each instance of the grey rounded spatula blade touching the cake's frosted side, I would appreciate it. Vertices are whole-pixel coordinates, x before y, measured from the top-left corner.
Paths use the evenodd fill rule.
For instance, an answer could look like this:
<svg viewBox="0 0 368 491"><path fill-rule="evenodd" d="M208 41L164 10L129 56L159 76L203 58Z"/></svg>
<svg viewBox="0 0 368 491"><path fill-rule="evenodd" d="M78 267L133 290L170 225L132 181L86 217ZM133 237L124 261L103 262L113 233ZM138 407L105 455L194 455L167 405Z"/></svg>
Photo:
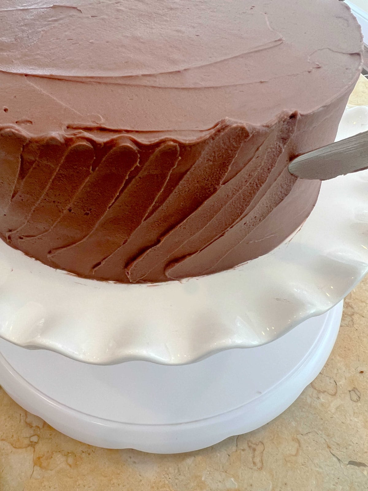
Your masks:
<svg viewBox="0 0 368 491"><path fill-rule="evenodd" d="M296 157L289 172L301 179L326 181L368 168L368 131Z"/></svg>

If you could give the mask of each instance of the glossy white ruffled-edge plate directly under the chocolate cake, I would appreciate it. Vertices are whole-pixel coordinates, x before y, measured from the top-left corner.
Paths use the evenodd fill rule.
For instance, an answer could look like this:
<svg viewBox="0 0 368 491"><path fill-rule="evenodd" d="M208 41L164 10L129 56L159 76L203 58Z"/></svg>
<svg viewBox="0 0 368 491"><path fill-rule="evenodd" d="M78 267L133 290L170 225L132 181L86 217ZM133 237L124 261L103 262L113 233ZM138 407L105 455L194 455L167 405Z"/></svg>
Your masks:
<svg viewBox="0 0 368 491"><path fill-rule="evenodd" d="M368 107L347 109L338 137L365 130ZM363 171L322 183L289 242L234 270L183 282L81 279L0 241L0 336L94 364L191 363L273 341L336 305L367 272Z"/></svg>

